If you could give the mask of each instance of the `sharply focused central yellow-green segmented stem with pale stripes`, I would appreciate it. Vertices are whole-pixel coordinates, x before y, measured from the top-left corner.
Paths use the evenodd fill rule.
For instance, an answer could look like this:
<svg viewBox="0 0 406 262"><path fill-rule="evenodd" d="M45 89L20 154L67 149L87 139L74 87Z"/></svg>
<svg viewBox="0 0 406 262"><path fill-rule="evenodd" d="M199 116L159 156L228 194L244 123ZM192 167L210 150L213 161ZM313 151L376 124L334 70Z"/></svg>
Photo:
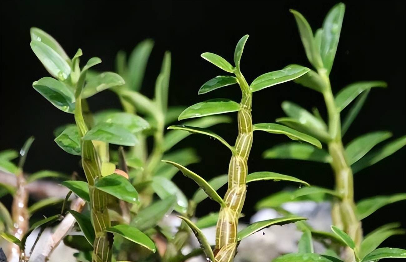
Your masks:
<svg viewBox="0 0 406 262"><path fill-rule="evenodd" d="M220 209L216 226L216 262L231 262L237 249L237 225L246 194L248 155L253 143L253 123L251 116L252 93L240 72L236 73L242 90L238 111L238 137L231 157L228 173L228 189Z"/></svg>

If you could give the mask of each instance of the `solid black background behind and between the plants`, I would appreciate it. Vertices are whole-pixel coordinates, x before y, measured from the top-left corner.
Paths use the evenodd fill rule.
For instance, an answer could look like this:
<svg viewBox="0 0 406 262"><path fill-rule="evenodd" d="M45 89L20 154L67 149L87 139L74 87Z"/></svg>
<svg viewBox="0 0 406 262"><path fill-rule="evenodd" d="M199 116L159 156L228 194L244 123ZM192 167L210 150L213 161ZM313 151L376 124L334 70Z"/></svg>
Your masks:
<svg viewBox="0 0 406 262"><path fill-rule="evenodd" d="M80 47L82 61L93 56L102 58L99 70L113 70L117 51L130 52L145 38L155 40L143 93L153 92L162 55L172 52L170 105L192 105L199 101L225 97L238 101L236 86L209 94L197 95L208 79L223 74L220 69L200 57L214 52L232 61L235 44L244 34L250 38L242 56L242 72L248 82L255 77L282 69L287 64L307 62L294 17L289 8L300 11L313 30L319 28L324 15L336 2L264 1L264 2L138 2L138 1L2 1L1 8L1 150L20 148L34 135L26 171L52 169L65 172L80 170L78 157L68 155L53 142L52 131L73 116L48 103L32 88L32 82L48 75L32 53L29 29L37 26L54 36L73 56ZM376 88L369 94L360 115L344 137L344 143L375 130L391 130L394 137L405 132L405 4L403 1L348 1L337 50L330 75L333 91L359 80L384 80L389 88ZM322 97L317 92L292 82L267 88L254 94L254 122L272 122L283 116L280 104L291 100L311 109L317 106L325 116ZM115 95L105 91L90 99L91 109L119 107ZM236 135L236 119L232 125L219 125L213 130L232 142ZM328 165L293 160L264 160L263 150L288 139L281 135L257 133L249 159L250 172L274 171L294 175L307 182L333 187ZM179 147L199 150L201 163L190 168L209 179L227 172L229 151L204 136L190 136ZM404 192L406 186L405 153L395 155L367 168L354 177L355 198ZM175 176L175 182L192 195L194 183ZM249 186L243 213L255 212L257 200L289 184L254 183ZM221 190L220 190L221 191ZM198 215L217 208L209 200L203 202ZM386 206L363 222L366 232L393 221L406 226L406 202ZM248 218L244 218L246 221ZM387 246L406 247L404 236L395 236Z"/></svg>

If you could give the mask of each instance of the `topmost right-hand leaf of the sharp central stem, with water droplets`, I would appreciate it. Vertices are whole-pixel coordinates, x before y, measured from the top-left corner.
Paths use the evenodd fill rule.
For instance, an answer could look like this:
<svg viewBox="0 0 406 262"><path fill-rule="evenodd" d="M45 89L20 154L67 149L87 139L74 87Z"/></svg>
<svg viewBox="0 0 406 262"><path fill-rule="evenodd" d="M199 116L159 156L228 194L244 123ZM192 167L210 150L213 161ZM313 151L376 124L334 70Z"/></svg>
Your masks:
<svg viewBox="0 0 406 262"><path fill-rule="evenodd" d="M310 69L307 67L302 67L298 64L291 64L282 70L265 73L255 78L250 85L250 90L251 92L256 92L262 90L263 88L282 84L301 77L309 71Z"/></svg>

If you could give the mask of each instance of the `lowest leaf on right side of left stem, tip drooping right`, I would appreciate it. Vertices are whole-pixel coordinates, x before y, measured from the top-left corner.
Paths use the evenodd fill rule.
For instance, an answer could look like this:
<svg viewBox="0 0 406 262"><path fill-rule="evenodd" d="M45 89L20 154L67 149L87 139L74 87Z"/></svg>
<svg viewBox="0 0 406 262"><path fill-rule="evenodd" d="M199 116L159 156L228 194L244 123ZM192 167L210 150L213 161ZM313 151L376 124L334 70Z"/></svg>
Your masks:
<svg viewBox="0 0 406 262"><path fill-rule="evenodd" d="M123 236L134 243L146 247L154 253L156 251L155 244L152 242L152 240L146 234L130 225L115 225L107 228L106 231L119 234L120 236Z"/></svg>

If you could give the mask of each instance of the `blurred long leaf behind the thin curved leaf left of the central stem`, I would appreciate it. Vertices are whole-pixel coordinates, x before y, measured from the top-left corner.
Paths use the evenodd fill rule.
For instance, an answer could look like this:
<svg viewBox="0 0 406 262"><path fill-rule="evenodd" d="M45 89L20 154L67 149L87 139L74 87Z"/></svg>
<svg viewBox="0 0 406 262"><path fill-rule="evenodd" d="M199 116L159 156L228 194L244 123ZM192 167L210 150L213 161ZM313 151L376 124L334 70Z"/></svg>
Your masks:
<svg viewBox="0 0 406 262"><path fill-rule="evenodd" d="M199 119L184 122L184 125L192 127L207 128L221 123L229 123L231 119L228 116L205 116ZM164 135L164 151L171 149L178 142L190 135L187 131L172 130ZM176 161L175 161L176 162Z"/></svg>

